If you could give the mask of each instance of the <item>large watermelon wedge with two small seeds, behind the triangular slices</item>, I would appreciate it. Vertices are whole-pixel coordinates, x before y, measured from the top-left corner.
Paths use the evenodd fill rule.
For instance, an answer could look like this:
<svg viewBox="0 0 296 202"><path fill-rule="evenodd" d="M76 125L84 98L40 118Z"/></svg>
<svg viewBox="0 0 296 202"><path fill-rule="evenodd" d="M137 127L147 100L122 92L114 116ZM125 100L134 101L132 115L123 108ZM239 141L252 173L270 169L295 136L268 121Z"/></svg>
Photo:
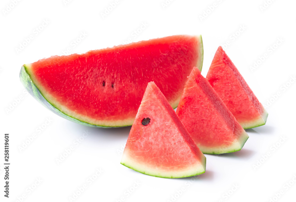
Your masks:
<svg viewBox="0 0 296 202"><path fill-rule="evenodd" d="M23 65L20 79L39 102L76 123L133 123L147 83L177 107L193 66L202 68L201 36L177 35Z"/></svg>

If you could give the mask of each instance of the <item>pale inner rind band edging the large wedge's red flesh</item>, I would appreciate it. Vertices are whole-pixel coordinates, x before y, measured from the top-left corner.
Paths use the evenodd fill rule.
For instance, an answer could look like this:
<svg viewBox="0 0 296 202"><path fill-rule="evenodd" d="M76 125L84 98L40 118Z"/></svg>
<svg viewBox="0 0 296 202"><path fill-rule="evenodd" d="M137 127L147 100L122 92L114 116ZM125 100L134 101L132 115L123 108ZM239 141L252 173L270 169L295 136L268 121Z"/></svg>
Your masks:
<svg viewBox="0 0 296 202"><path fill-rule="evenodd" d="M198 43L198 52L199 52L199 60L197 61L196 66L201 70L202 68L202 62L203 62L203 44L202 44L202 37L201 35L196 36L197 43ZM122 127L122 126L131 126L133 124L133 121L135 120L135 117L128 118L128 119L120 119L120 120L112 120L110 118L109 120L97 120L94 118L90 118L88 116L81 115L79 113L74 112L73 110L70 110L66 106L64 106L62 103L60 103L55 97L53 97L51 94L47 93L46 89L43 88L43 86L37 81L35 78L32 70L31 70L31 64L24 65L26 72L30 76L33 83L36 85L36 87L39 89L40 93L44 97L44 99L47 100L52 106L57 108L60 112L64 113L66 116L70 116L72 118L75 118L79 121L96 125L96 126L106 126L106 127ZM173 108L176 108L180 102L181 94L179 97L176 98L173 102L171 102L171 106Z"/></svg>

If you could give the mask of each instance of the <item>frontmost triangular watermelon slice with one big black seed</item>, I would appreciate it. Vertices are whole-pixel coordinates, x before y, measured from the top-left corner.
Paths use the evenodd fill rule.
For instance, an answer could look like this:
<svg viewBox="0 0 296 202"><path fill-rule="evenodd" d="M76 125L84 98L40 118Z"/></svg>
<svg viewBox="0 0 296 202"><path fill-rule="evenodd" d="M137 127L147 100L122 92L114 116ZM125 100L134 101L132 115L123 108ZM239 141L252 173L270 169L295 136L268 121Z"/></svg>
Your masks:
<svg viewBox="0 0 296 202"><path fill-rule="evenodd" d="M205 172L205 156L154 82L147 85L121 164L163 178Z"/></svg>

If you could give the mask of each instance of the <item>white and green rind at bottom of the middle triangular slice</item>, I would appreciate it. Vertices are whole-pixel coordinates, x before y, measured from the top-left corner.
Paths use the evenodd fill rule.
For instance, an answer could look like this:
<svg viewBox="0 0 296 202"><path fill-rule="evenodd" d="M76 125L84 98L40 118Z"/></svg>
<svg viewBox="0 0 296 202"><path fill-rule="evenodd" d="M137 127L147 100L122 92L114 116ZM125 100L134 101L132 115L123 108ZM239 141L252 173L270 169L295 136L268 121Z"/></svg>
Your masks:
<svg viewBox="0 0 296 202"><path fill-rule="evenodd" d="M240 134L240 138L232 142L231 145L219 148L205 148L200 145L198 147L204 154L223 154L223 153L231 153L239 151L243 148L244 143L248 140L248 134L243 130L242 134Z"/></svg>

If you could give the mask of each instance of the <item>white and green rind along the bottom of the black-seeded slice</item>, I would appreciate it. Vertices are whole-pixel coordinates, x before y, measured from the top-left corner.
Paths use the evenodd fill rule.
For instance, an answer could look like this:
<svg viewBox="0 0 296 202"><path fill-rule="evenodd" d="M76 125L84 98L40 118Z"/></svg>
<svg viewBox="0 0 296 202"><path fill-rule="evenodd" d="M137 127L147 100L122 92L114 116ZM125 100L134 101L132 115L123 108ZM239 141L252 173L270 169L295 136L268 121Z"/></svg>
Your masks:
<svg viewBox="0 0 296 202"><path fill-rule="evenodd" d="M123 152L121 164L138 171L140 173L154 176L154 177L162 177L162 178L182 178L182 177L191 177L195 175L199 175L205 172L206 167L206 158L202 155L201 162L197 162L195 165L192 165L186 169L182 169L180 171L163 171L161 168L151 168L151 166L146 164L141 164L137 161L134 161L133 155L130 155L127 150Z"/></svg>

